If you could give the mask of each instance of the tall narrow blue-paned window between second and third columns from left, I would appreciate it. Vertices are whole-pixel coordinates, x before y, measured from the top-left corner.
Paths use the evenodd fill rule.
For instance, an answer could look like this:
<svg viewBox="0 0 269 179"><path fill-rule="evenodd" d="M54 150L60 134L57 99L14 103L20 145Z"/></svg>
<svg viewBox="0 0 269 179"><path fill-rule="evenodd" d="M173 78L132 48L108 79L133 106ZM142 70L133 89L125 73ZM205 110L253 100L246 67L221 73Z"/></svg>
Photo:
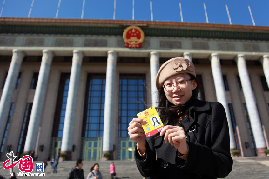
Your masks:
<svg viewBox="0 0 269 179"><path fill-rule="evenodd" d="M62 73L58 88L56 111L54 115L52 137L63 137L63 123L67 103L70 73Z"/></svg>

